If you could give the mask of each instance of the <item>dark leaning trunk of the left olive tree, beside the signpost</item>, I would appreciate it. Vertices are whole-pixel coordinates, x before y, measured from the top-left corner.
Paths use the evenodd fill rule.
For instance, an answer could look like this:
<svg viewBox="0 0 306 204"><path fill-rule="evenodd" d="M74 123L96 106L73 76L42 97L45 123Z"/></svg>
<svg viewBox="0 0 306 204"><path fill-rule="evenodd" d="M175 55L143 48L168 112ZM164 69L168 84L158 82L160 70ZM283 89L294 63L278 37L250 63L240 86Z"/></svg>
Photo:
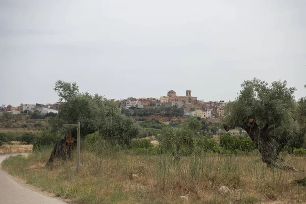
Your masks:
<svg viewBox="0 0 306 204"><path fill-rule="evenodd" d="M55 144L53 151L46 165L52 163L55 158L62 159L64 161L72 159L72 149L77 145L77 140L70 133L64 139L61 139Z"/></svg>

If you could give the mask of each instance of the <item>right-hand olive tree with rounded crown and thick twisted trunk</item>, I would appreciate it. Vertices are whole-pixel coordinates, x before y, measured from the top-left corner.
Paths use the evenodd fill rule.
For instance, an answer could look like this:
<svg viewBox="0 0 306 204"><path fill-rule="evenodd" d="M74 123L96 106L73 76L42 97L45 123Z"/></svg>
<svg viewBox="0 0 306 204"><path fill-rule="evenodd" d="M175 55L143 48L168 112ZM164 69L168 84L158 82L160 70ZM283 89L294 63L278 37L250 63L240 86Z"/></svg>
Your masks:
<svg viewBox="0 0 306 204"><path fill-rule="evenodd" d="M224 129L242 127L269 167L287 168L279 160L280 147L277 131L290 123L294 108L295 88L287 82L272 82L253 79L241 85L242 90L234 101L226 105Z"/></svg>

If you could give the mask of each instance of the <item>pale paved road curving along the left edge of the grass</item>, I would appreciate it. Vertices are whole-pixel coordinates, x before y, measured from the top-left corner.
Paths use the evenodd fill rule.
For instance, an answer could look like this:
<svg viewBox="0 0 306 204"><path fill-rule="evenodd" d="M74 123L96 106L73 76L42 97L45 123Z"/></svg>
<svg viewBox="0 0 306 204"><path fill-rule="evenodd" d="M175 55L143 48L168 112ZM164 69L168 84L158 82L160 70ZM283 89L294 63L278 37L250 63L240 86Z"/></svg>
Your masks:
<svg viewBox="0 0 306 204"><path fill-rule="evenodd" d="M14 155L18 154L0 155L0 164L5 158ZM65 204L65 202L22 185L11 175L0 170L0 204Z"/></svg>

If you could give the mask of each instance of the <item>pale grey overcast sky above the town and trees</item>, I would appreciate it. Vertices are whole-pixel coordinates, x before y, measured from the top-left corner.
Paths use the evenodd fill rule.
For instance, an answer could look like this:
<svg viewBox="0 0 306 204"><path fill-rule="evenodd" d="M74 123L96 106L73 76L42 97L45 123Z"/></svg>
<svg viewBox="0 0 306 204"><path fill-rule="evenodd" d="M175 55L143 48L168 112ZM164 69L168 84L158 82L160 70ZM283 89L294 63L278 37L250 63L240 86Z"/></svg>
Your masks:
<svg viewBox="0 0 306 204"><path fill-rule="evenodd" d="M205 101L286 80L299 98L305 36L304 0L0 0L0 105L55 103L59 79L107 98Z"/></svg>

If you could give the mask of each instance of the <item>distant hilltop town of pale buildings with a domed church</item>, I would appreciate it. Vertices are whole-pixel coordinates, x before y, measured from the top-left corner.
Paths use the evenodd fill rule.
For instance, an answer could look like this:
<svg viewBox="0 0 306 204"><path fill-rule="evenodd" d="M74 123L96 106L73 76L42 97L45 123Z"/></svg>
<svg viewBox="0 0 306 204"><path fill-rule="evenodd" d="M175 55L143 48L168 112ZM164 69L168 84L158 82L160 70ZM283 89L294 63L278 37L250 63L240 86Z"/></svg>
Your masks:
<svg viewBox="0 0 306 204"><path fill-rule="evenodd" d="M176 107L181 109L184 116L198 116L200 118L221 118L224 114L226 103L220 101L203 101L198 100L196 96L191 95L191 90L186 91L185 96L176 95L173 90L168 91L167 95L160 98L134 98L129 97L122 100L111 99L122 110L149 109L149 108L170 108ZM11 105L1 105L0 115L8 113L12 115L20 114L21 112L34 112L46 114L49 112L58 113L61 104L20 104L13 107Z"/></svg>

